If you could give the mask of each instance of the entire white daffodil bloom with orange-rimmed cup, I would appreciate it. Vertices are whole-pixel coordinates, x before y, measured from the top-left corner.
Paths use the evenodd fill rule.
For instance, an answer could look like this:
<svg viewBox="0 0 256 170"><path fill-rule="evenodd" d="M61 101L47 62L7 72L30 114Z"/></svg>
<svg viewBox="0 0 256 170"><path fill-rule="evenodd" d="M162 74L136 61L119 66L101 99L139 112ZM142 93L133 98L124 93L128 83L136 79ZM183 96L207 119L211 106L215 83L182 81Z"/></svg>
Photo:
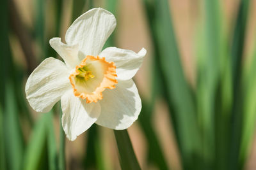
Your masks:
<svg viewBox="0 0 256 170"><path fill-rule="evenodd" d="M61 100L62 126L72 141L94 123L127 129L140 114L141 99L132 77L146 50L135 53L109 47L101 52L115 27L109 11L87 11L68 28L67 44L50 39L65 63L45 59L26 83L26 96L35 111L50 111Z"/></svg>

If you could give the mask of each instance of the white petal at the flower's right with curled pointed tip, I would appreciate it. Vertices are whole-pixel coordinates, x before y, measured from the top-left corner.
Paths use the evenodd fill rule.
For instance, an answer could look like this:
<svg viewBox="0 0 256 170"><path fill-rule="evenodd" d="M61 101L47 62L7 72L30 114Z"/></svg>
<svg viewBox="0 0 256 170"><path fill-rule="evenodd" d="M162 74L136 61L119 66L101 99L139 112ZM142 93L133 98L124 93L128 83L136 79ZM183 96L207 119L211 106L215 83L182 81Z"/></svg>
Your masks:
<svg viewBox="0 0 256 170"><path fill-rule="evenodd" d="M129 80L140 69L146 53L145 48L135 53L131 50L109 47L103 50L99 56L106 57L106 60L115 62L117 80Z"/></svg>

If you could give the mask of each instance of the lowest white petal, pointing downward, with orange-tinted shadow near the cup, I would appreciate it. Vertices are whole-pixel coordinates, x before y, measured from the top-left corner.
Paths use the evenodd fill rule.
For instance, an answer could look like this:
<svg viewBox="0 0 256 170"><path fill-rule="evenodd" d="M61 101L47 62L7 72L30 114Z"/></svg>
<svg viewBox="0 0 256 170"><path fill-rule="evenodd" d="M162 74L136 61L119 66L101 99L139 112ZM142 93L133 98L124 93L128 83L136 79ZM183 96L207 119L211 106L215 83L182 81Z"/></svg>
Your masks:
<svg viewBox="0 0 256 170"><path fill-rule="evenodd" d="M88 104L85 100L74 96L72 90L68 90L61 97L61 108L62 127L71 141L89 129L100 115L99 103Z"/></svg>

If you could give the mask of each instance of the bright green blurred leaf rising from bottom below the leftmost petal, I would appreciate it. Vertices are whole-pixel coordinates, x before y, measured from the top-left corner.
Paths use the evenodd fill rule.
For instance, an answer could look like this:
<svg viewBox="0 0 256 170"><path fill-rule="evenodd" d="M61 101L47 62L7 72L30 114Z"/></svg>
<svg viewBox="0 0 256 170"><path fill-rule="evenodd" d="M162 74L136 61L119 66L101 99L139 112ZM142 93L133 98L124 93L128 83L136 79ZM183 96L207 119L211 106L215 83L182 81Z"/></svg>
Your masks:
<svg viewBox="0 0 256 170"><path fill-rule="evenodd" d="M45 163L42 163L42 159L45 157L44 154L48 133L47 124L49 124L50 119L51 113L44 113L33 128L24 155L24 169L26 170L43 169L45 166Z"/></svg>

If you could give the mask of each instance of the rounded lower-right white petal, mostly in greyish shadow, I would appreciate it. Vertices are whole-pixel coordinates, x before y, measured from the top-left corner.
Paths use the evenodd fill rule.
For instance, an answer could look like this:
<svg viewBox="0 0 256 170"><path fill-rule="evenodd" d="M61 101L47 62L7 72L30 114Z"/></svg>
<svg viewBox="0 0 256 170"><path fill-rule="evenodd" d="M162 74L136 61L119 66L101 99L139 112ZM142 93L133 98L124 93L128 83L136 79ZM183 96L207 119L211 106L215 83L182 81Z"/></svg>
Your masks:
<svg viewBox="0 0 256 170"><path fill-rule="evenodd" d="M141 99L132 80L118 81L115 89L106 89L99 103L101 113L95 123L116 130L130 127L141 111Z"/></svg>

